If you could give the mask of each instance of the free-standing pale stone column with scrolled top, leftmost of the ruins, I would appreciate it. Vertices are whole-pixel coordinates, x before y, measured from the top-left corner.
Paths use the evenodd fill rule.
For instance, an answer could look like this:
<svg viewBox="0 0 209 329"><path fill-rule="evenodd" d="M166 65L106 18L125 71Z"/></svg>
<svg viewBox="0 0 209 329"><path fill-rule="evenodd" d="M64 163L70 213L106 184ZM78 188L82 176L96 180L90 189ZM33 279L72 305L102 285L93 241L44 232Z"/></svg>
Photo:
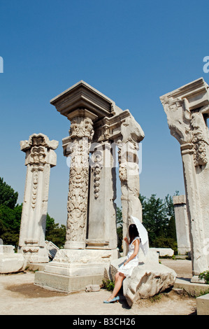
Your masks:
<svg viewBox="0 0 209 329"><path fill-rule="evenodd" d="M58 141L50 141L44 134L32 134L28 141L20 141L26 153L27 176L22 206L18 252L27 262L48 262L45 249L45 222L48 208L50 167L57 162Z"/></svg>

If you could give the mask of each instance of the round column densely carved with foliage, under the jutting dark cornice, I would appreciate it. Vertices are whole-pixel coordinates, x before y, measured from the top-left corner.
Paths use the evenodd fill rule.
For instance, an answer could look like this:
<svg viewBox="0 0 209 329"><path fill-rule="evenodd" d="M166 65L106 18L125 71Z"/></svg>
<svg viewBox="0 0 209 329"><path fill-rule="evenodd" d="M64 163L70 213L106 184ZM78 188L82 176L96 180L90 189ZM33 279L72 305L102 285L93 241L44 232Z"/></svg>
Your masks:
<svg viewBox="0 0 209 329"><path fill-rule="evenodd" d="M66 155L71 156L65 249L85 249L89 186L89 147L96 116L83 110L71 115ZM64 146L65 147L65 146Z"/></svg>

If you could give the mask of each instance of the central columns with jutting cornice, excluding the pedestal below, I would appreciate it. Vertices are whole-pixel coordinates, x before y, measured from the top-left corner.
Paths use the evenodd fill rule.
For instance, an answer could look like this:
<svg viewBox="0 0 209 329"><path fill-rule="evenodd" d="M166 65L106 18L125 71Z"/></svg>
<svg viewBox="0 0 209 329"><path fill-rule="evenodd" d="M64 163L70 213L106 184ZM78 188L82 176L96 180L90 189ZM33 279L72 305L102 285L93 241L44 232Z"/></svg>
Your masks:
<svg viewBox="0 0 209 329"><path fill-rule="evenodd" d="M130 216L142 218L138 180L138 143L144 133L129 110L80 81L51 100L71 121L63 139L71 157L65 249L117 248L116 148L122 186L124 236ZM128 210L129 209L129 210Z"/></svg>

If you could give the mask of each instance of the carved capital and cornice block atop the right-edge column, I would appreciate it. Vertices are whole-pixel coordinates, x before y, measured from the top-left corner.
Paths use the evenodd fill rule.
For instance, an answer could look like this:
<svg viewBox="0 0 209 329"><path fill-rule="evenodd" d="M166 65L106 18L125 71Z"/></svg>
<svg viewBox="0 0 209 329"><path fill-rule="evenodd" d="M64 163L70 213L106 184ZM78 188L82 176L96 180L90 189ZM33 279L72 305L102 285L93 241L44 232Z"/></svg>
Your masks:
<svg viewBox="0 0 209 329"><path fill-rule="evenodd" d="M206 165L209 145L205 120L209 113L208 85L201 78L161 96L160 99L171 135L181 146L189 145L189 153L193 153L195 167ZM184 152L182 154L185 154L187 146L181 149Z"/></svg>

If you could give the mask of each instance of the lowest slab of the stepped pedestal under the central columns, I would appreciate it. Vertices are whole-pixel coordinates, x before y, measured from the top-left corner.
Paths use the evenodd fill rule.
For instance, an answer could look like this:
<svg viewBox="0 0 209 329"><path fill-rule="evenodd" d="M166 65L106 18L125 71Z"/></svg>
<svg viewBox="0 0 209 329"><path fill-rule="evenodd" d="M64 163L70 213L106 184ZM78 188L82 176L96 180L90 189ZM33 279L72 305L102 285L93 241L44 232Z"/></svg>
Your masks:
<svg viewBox="0 0 209 329"><path fill-rule="evenodd" d="M59 291L62 293L73 293L85 290L89 284L101 284L103 274L86 276L66 276L46 272L36 272L34 284L45 289Z"/></svg>

